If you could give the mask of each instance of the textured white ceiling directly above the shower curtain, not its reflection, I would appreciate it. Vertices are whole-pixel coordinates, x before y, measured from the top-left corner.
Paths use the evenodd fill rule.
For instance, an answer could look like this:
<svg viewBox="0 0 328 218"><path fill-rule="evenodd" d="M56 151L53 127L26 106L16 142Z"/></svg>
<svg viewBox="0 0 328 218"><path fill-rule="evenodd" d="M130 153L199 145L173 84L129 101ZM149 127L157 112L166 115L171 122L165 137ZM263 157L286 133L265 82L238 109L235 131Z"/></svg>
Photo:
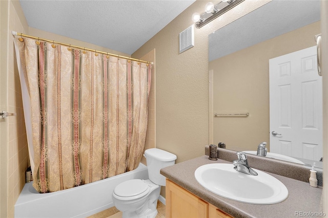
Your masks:
<svg viewBox="0 0 328 218"><path fill-rule="evenodd" d="M20 5L29 27L132 54L194 2L20 0Z"/></svg>

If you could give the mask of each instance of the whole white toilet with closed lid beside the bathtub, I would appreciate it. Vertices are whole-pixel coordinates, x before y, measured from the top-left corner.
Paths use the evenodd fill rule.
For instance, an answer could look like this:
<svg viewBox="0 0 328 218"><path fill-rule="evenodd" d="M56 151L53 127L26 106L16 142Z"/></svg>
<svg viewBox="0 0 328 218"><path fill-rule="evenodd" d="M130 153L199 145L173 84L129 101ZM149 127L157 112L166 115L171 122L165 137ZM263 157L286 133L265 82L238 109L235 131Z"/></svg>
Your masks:
<svg viewBox="0 0 328 218"><path fill-rule="evenodd" d="M176 155L158 148L145 150L149 180L128 180L114 188L112 193L115 207L122 211L122 217L149 217L157 215L157 199L160 186L165 186L165 177L159 170L174 165Z"/></svg>

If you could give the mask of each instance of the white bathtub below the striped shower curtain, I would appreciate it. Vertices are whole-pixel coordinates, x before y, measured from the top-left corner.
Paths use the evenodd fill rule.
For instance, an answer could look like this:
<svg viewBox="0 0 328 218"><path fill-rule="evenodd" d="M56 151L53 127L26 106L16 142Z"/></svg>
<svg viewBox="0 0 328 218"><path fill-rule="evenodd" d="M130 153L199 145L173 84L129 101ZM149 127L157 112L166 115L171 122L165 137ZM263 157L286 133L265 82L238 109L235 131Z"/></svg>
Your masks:
<svg viewBox="0 0 328 218"><path fill-rule="evenodd" d="M86 217L113 207L112 191L131 179L148 179L147 166L105 180L51 193L38 193L25 184L15 204L15 217Z"/></svg>

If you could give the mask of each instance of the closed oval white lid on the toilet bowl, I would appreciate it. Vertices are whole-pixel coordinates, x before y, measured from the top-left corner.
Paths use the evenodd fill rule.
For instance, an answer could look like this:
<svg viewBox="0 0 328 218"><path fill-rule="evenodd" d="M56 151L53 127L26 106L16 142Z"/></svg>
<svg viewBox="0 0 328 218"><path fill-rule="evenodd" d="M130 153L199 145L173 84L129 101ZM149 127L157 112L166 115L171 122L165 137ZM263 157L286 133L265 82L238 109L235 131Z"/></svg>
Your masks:
<svg viewBox="0 0 328 218"><path fill-rule="evenodd" d="M146 191L147 189L149 189L149 186L144 181L135 179L117 185L114 189L114 193L119 197L132 197L142 192L145 192L144 195L146 195L148 193L148 191Z"/></svg>

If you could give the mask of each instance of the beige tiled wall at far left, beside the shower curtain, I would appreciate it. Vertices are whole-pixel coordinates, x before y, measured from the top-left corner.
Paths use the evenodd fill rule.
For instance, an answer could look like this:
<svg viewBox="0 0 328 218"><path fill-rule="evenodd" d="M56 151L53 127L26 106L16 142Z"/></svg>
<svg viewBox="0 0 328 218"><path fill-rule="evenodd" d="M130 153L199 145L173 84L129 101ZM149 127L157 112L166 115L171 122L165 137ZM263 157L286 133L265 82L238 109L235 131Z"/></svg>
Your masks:
<svg viewBox="0 0 328 218"><path fill-rule="evenodd" d="M15 117L1 123L1 217L14 216L14 204L25 184L28 148L24 124L22 93L11 31L28 33L18 1L1 1L1 108ZM22 16L23 15L23 16Z"/></svg>

